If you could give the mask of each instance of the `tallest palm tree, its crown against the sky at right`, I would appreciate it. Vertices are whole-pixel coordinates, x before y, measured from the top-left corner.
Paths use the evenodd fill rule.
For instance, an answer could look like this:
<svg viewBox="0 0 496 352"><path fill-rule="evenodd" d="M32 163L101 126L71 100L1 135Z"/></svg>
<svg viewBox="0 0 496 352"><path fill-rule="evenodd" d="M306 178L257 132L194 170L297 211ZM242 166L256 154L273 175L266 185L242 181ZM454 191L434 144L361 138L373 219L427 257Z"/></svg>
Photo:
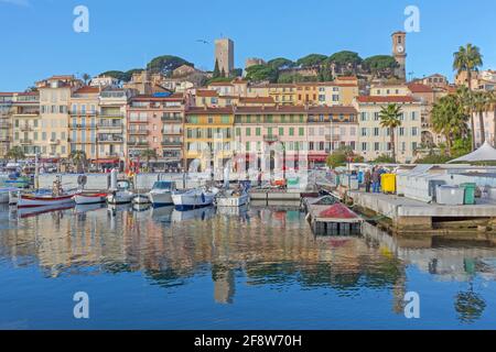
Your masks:
<svg viewBox="0 0 496 352"><path fill-rule="evenodd" d="M461 46L456 53L453 54L453 70L460 75L461 73L466 73L468 92L472 92L472 73L477 72L478 67L483 65L483 56L477 46L472 44L466 44L466 46ZM470 111L471 125L472 125L472 150L475 150L475 129L474 119L472 116L473 110Z"/></svg>

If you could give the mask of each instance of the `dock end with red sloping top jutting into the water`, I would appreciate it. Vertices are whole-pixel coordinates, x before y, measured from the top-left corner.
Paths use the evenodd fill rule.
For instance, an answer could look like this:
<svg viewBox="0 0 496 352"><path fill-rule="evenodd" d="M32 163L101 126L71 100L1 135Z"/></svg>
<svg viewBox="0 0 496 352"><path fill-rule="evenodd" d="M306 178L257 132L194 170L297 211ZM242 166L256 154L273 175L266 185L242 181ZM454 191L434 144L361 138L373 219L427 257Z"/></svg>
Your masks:
<svg viewBox="0 0 496 352"><path fill-rule="evenodd" d="M358 234L364 222L364 219L342 204L310 205L306 219L315 235Z"/></svg>

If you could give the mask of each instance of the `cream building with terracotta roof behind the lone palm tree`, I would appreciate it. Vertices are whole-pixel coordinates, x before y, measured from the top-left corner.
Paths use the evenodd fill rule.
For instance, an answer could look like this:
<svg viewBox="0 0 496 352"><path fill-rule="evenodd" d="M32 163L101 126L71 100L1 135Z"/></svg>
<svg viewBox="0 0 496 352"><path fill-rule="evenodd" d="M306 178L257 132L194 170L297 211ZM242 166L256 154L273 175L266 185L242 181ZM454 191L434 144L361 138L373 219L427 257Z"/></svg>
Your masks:
<svg viewBox="0 0 496 352"><path fill-rule="evenodd" d="M360 96L355 100L358 110L357 152L366 161L380 155L390 155L390 131L380 125L380 110L390 103L401 107L401 127L396 129L396 155L399 162L413 162L416 151L422 142L422 105L411 96Z"/></svg>

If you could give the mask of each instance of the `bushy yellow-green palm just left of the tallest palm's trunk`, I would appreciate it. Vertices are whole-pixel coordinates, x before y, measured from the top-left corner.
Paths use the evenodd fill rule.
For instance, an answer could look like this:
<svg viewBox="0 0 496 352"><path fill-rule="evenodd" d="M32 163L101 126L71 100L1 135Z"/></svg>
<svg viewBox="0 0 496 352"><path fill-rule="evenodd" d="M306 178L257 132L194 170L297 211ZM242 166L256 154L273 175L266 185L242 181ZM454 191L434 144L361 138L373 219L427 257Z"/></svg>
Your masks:
<svg viewBox="0 0 496 352"><path fill-rule="evenodd" d="M440 133L446 140L448 154L452 154L455 140L468 133L468 116L459 96L445 96L441 98L431 111L432 127L435 133Z"/></svg>

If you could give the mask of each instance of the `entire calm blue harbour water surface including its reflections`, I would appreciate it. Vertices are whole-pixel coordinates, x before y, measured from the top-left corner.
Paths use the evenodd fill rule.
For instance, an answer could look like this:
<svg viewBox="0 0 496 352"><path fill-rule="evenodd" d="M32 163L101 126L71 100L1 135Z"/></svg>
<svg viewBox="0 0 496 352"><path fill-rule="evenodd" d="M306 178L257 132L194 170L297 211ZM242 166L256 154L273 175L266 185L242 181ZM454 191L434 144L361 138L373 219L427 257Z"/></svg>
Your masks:
<svg viewBox="0 0 496 352"><path fill-rule="evenodd" d="M495 328L494 243L369 224L315 238L283 208L2 208L0 328ZM89 295L88 320L73 316L76 292ZM407 292L420 319L405 318Z"/></svg>

